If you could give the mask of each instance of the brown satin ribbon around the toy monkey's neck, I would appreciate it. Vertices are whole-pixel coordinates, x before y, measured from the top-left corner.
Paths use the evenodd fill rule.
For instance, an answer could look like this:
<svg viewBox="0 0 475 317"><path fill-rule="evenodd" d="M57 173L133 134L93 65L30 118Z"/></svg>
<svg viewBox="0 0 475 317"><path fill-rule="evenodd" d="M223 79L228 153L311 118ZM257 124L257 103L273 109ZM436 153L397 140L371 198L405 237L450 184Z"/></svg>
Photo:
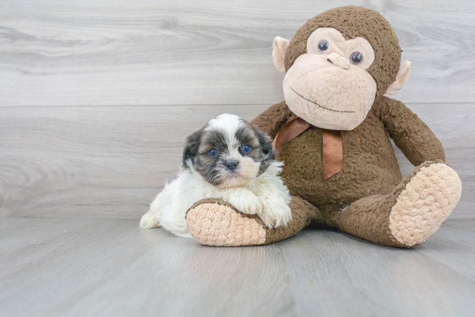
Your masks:
<svg viewBox="0 0 475 317"><path fill-rule="evenodd" d="M272 146L279 150L296 136L311 126L297 117L285 123L272 141ZM323 180L327 180L343 169L343 146L340 131L322 129L323 137Z"/></svg>

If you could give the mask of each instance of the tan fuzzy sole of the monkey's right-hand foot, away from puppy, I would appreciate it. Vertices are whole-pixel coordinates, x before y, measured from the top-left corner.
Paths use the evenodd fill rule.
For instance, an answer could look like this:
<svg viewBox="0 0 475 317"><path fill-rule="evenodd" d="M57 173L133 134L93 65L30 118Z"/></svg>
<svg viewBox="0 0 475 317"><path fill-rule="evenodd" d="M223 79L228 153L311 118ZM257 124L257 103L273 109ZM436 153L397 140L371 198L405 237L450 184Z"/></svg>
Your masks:
<svg viewBox="0 0 475 317"><path fill-rule="evenodd" d="M444 163L422 167L399 194L389 215L397 242L413 246L433 235L460 199L459 175Z"/></svg>

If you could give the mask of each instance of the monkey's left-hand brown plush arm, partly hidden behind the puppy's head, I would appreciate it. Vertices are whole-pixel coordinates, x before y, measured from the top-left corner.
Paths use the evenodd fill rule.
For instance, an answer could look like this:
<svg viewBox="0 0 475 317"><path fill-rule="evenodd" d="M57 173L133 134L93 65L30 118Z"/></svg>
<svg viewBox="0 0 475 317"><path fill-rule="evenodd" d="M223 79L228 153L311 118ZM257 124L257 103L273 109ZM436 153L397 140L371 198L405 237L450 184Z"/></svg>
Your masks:
<svg viewBox="0 0 475 317"><path fill-rule="evenodd" d="M267 133L271 138L274 138L279 132L280 128L292 115L292 111L285 104L285 101L269 107L266 111L258 115L252 124L255 124L259 130Z"/></svg>

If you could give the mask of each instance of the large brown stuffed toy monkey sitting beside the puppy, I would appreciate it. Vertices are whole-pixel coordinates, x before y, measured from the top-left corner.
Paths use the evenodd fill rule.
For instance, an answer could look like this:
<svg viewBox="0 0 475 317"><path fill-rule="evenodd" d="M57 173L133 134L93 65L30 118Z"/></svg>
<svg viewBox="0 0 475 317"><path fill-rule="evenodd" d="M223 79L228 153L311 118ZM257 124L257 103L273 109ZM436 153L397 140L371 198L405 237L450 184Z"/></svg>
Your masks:
<svg viewBox="0 0 475 317"><path fill-rule="evenodd" d="M461 194L440 141L394 94L411 63L401 62L394 30L356 6L308 20L291 41L276 37L274 64L285 101L252 123L274 138L292 195L292 220L269 228L216 199L187 212L191 236L206 245L280 241L322 224L371 242L411 247L426 241ZM390 137L415 167L402 178Z"/></svg>

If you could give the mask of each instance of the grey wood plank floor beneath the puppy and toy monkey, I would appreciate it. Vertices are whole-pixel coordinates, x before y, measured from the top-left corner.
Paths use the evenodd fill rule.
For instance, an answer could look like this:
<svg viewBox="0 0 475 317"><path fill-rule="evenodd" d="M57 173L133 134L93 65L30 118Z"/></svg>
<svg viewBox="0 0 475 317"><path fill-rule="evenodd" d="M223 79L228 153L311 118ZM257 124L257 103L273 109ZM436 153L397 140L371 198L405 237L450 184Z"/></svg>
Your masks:
<svg viewBox="0 0 475 317"><path fill-rule="evenodd" d="M412 249L318 229L206 247L137 223L1 218L0 316L475 315L475 220Z"/></svg>

